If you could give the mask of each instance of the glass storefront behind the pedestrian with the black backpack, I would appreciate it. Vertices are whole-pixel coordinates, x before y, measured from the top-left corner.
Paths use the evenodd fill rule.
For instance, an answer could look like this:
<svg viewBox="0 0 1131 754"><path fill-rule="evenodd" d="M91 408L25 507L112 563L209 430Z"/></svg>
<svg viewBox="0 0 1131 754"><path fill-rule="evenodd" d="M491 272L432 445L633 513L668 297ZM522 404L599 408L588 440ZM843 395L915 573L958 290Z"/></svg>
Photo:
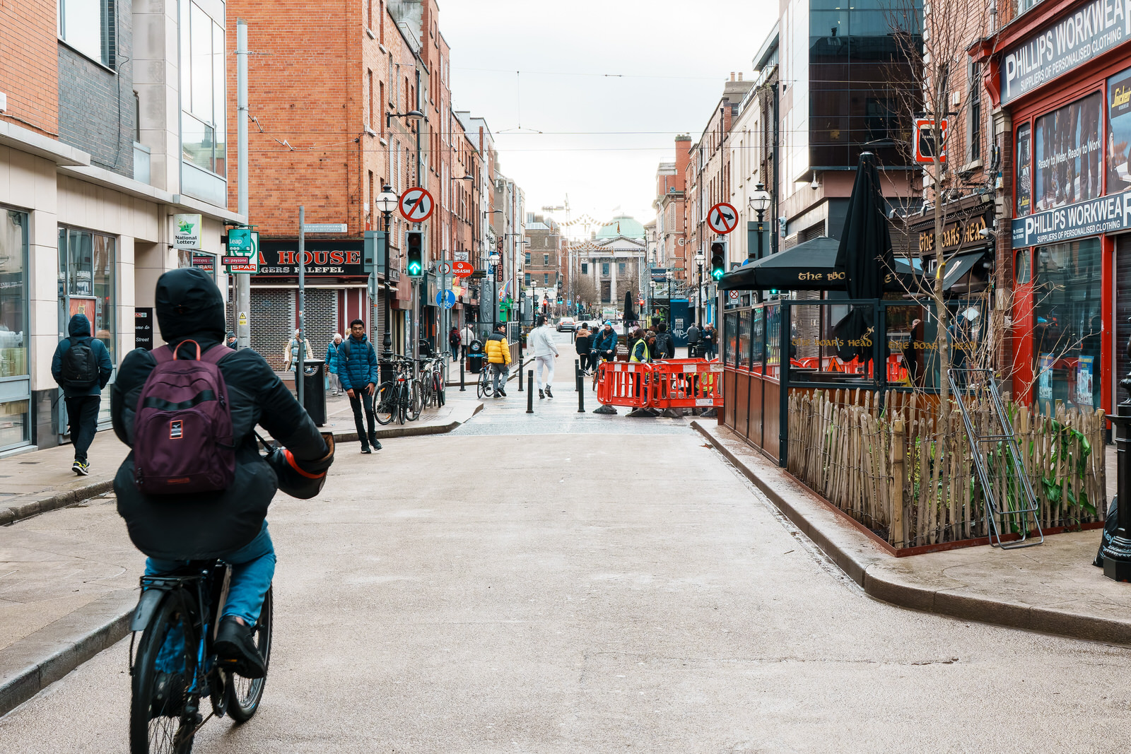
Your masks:
<svg viewBox="0 0 1131 754"><path fill-rule="evenodd" d="M66 337L71 317L85 314L90 321L90 333L105 344L110 359L118 364L114 257L113 236L59 227L59 331ZM62 432L66 427L62 401L59 407L57 428ZM98 422L109 421L110 400L103 400Z"/></svg>

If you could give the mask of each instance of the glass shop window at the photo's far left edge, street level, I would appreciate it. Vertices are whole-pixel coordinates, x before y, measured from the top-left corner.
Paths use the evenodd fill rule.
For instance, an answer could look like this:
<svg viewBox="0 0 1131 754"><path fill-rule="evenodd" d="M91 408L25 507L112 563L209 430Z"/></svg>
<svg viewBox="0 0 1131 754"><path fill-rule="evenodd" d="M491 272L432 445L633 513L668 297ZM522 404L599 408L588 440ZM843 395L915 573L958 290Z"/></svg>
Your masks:
<svg viewBox="0 0 1131 754"><path fill-rule="evenodd" d="M0 227L0 450L31 441L27 371L28 215L5 209Z"/></svg>

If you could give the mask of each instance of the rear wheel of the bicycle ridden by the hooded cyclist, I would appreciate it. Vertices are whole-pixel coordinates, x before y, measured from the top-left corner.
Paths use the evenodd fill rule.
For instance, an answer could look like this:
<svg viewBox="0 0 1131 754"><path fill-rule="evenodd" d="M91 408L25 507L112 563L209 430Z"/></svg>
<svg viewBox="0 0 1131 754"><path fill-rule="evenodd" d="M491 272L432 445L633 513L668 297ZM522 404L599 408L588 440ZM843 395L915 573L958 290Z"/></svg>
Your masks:
<svg viewBox="0 0 1131 754"><path fill-rule="evenodd" d="M192 623L180 601L166 597L141 634L132 669L130 754L192 751L199 717L185 712L199 695L189 692L197 675Z"/></svg>

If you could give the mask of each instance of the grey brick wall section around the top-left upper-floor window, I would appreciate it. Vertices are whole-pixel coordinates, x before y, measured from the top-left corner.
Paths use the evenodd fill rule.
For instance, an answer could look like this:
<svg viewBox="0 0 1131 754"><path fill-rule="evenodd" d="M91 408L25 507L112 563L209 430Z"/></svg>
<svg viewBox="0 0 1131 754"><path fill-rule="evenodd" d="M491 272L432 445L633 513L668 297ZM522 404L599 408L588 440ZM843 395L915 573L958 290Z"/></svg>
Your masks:
<svg viewBox="0 0 1131 754"><path fill-rule="evenodd" d="M57 43L59 140L90 153L90 163L133 177L133 23L131 0L115 0L113 28L116 76Z"/></svg>

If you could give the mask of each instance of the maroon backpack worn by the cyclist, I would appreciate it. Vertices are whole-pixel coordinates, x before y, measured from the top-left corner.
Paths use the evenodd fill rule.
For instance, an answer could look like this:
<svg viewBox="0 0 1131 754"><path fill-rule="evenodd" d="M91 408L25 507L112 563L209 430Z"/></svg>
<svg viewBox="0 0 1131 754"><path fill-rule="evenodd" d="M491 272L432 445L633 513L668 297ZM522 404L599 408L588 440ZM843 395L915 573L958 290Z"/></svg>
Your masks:
<svg viewBox="0 0 1131 754"><path fill-rule="evenodd" d="M150 495L225 489L235 476L227 385L217 366L235 353L219 344L196 359L170 346L153 352L157 366L141 388L133 421L138 488Z"/></svg>

